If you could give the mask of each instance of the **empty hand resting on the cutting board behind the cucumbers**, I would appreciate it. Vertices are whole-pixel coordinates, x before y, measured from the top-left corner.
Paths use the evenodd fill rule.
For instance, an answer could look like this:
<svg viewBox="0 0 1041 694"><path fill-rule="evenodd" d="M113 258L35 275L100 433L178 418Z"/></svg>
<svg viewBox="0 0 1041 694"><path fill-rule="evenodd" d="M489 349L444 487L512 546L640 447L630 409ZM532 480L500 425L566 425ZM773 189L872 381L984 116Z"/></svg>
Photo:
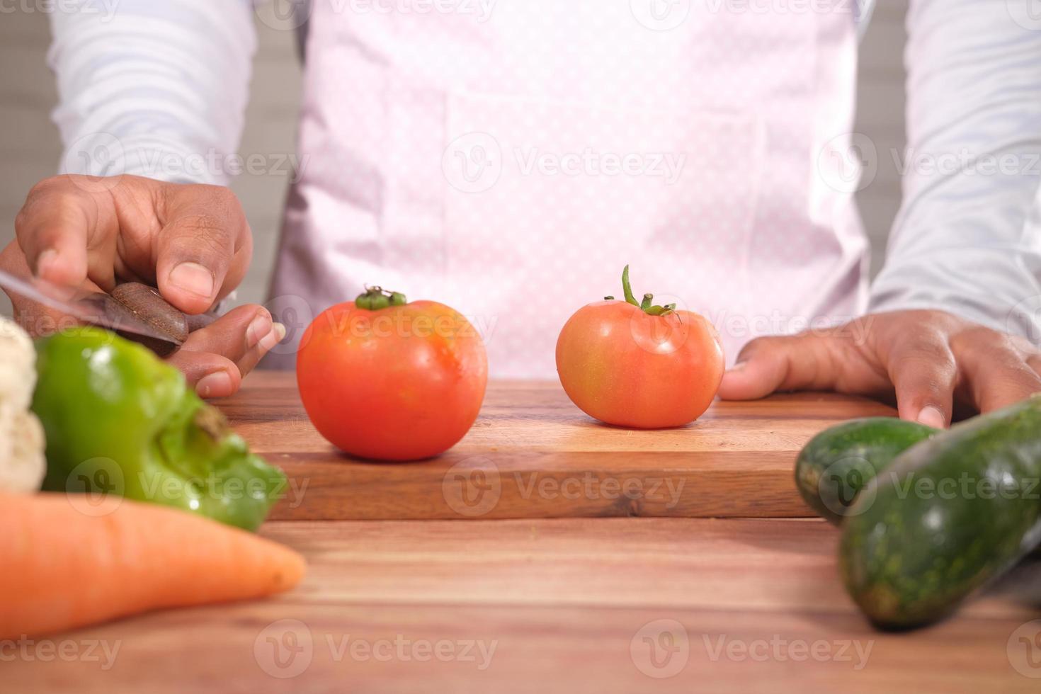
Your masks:
<svg viewBox="0 0 1041 694"><path fill-rule="evenodd" d="M980 412L1041 392L1041 351L943 311L894 311L839 328L748 342L723 377L723 400L778 390L895 393L899 415L950 423L956 402Z"/></svg>

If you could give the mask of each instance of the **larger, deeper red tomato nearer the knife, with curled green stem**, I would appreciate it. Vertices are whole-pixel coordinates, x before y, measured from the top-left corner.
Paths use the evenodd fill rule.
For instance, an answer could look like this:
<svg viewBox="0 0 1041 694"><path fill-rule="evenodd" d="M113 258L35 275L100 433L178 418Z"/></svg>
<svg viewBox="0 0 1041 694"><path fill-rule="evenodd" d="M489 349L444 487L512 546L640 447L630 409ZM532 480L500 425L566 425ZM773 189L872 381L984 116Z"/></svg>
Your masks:
<svg viewBox="0 0 1041 694"><path fill-rule="evenodd" d="M297 383L311 422L345 452L430 458L477 419L488 360L480 335L455 310L393 297L401 305L345 303L320 314L301 338Z"/></svg>

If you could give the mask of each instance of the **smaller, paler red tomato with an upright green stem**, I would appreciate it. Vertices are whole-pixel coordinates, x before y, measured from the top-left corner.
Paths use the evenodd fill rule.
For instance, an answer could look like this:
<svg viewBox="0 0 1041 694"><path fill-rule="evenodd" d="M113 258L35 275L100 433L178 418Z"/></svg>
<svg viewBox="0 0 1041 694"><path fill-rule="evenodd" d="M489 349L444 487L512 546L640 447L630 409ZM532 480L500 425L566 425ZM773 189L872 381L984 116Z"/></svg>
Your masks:
<svg viewBox="0 0 1041 694"><path fill-rule="evenodd" d="M624 283L628 289L628 273ZM595 302L560 331L560 383L589 416L637 429L681 427L712 404L725 368L715 328L690 311L655 309L663 312Z"/></svg>

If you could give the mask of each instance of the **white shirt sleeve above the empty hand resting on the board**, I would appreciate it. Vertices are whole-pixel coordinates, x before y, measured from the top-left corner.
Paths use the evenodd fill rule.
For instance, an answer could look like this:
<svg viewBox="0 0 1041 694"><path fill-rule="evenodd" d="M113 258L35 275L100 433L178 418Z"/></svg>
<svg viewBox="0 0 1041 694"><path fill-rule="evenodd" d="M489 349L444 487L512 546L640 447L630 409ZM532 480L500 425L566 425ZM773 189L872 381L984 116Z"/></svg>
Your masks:
<svg viewBox="0 0 1041 694"><path fill-rule="evenodd" d="M1029 2L912 0L908 150L892 153L904 201L873 311L1041 334L1041 18Z"/></svg>

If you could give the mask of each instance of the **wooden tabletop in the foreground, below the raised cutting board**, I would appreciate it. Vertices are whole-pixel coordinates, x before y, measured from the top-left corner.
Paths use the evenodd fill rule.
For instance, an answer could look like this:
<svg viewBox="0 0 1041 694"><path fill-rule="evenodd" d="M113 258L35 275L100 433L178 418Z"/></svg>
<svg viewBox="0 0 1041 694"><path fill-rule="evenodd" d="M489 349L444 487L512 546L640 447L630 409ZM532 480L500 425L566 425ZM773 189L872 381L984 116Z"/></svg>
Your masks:
<svg viewBox="0 0 1041 694"><path fill-rule="evenodd" d="M98 646L98 661L6 658L5 691L1037 691L1012 665L1024 661L1010 636L1041 616L1024 596L1000 588L937 626L879 633L842 593L838 534L821 521L276 522L263 534L307 556L298 590L45 639L118 650L106 670ZM1020 583L1037 586L1041 566L1024 570Z"/></svg>

